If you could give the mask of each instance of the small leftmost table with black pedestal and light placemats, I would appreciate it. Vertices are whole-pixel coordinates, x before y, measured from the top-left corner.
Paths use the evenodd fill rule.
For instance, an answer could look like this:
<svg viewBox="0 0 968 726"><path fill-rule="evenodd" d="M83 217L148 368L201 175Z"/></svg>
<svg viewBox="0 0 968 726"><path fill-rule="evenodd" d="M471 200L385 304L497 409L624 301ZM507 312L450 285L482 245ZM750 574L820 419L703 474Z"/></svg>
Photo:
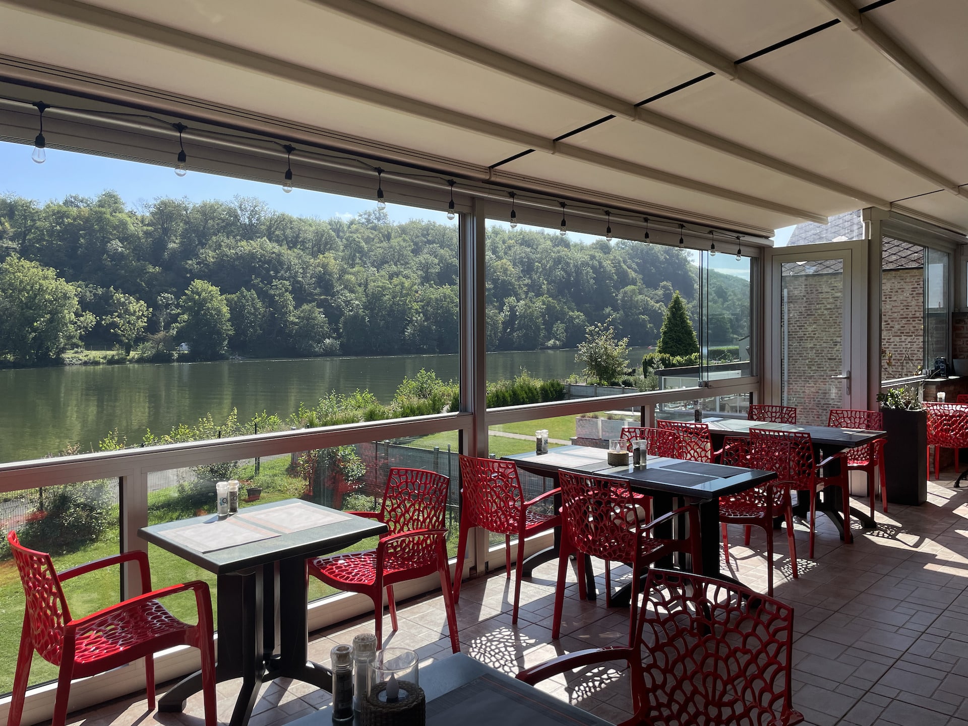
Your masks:
<svg viewBox="0 0 968 726"><path fill-rule="evenodd" d="M248 722L265 681L288 678L332 689L330 670L308 657L306 560L386 529L376 520L301 499L138 529L151 544L216 575L216 681L242 679L230 726ZM159 711L182 711L200 689L198 671L162 696Z"/></svg>

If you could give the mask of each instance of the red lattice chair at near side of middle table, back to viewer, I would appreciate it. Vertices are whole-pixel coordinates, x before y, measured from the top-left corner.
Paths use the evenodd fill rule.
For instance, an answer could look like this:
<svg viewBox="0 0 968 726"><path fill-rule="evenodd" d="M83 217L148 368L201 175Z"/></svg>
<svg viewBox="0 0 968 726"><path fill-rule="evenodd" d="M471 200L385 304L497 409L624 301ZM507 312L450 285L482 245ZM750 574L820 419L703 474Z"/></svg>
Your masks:
<svg viewBox="0 0 968 726"><path fill-rule="evenodd" d="M561 632L561 610L564 606L564 577L568 560L574 553L589 555L606 562L625 562L632 568L631 620L629 644L635 633L635 611L639 602L639 578L652 562L674 552L692 556L692 568L702 569L702 549L699 540L699 509L683 506L663 514L648 524L639 522L638 498L628 488L628 482L590 474L560 471L561 483L561 549L558 564L558 585L555 588L555 615L552 638ZM688 517L688 539L660 539L650 535L657 526L671 522L680 514ZM585 558L577 557L578 592L585 599ZM612 582L605 570L607 603L611 602Z"/></svg>

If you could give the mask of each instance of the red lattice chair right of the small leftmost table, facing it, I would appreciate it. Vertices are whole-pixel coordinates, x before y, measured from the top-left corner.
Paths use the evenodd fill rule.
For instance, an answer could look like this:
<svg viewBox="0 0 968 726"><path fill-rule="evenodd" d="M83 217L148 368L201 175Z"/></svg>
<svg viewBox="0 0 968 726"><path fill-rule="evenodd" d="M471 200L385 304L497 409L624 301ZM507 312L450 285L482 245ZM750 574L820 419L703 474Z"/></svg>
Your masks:
<svg viewBox="0 0 968 726"><path fill-rule="evenodd" d="M309 560L309 573L337 590L361 592L373 600L377 648L383 647L383 588L390 605L390 622L397 628L397 603L393 586L418 577L440 574L443 606L450 629L450 646L461 650L457 640L457 614L450 590L447 528L444 523L450 479L425 469L390 469L378 512L348 512L376 519L388 531L376 550L332 555Z"/></svg>

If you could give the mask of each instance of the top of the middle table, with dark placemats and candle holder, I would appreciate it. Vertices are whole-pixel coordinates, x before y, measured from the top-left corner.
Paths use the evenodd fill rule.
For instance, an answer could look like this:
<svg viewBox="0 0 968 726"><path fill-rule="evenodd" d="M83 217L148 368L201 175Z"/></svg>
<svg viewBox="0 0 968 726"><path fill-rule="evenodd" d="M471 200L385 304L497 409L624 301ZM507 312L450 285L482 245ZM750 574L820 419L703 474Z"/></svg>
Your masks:
<svg viewBox="0 0 968 726"><path fill-rule="evenodd" d="M547 454L514 454L504 459L515 462L521 469L543 475L553 475L559 469L594 473L628 481L633 490L645 493L662 492L695 499L716 499L745 491L776 478L773 471L724 467L720 464L690 462L668 457L650 456L645 469L631 464L610 467L605 449L590 446L560 446ZM629 457L631 459L631 456Z"/></svg>

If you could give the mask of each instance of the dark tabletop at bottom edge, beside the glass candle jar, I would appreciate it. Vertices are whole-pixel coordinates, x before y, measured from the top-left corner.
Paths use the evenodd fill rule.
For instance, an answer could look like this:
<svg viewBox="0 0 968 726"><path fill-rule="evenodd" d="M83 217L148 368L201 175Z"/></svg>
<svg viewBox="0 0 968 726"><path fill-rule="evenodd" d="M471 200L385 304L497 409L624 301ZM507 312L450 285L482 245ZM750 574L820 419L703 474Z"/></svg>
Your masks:
<svg viewBox="0 0 968 726"><path fill-rule="evenodd" d="M420 666L420 687L427 698L427 726L607 726L588 711L572 706L479 660L454 653ZM459 689L463 689L457 693ZM451 695L451 698L447 698ZM497 715L499 713L499 716ZM355 723L359 723L359 718ZM332 708L325 706L290 726L330 726Z"/></svg>

